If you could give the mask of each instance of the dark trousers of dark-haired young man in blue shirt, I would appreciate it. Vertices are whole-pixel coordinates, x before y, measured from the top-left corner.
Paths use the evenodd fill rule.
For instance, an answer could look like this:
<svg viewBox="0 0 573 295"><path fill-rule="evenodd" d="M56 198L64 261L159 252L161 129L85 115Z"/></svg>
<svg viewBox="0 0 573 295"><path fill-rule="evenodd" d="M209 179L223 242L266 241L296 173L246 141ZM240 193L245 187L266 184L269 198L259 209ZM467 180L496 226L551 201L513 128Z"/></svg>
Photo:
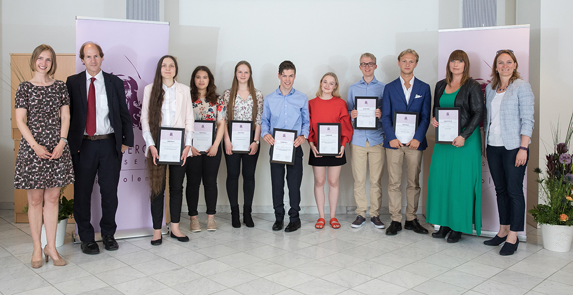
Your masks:
<svg viewBox="0 0 573 295"><path fill-rule="evenodd" d="M277 221L282 221L285 217L285 204L283 201L285 195L285 166L286 186L288 187L289 205L291 205L288 215L290 221L295 222L300 220L300 185L303 182L303 148L301 146L295 149L295 165L270 163L274 217Z"/></svg>

